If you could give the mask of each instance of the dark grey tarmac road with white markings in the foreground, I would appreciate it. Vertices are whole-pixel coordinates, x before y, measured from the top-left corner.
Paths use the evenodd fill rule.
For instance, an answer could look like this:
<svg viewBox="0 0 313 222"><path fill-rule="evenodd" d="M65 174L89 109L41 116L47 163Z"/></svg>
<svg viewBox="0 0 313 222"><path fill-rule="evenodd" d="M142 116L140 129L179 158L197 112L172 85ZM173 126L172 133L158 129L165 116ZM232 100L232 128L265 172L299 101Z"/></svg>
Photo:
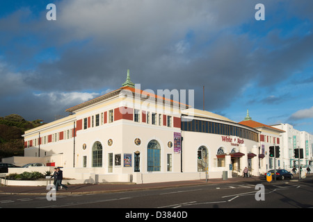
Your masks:
<svg viewBox="0 0 313 222"><path fill-rule="evenodd" d="M2 208L119 208L122 212L140 209L175 210L187 208L307 208L313 207L313 184L307 182L263 182L264 200L256 200L256 183L198 185L166 189L125 191L111 194L62 196L48 201L46 196L0 195ZM259 193L258 193L259 194ZM258 196L261 197L261 194ZM121 216L121 215L120 215ZM124 216L124 214L122 215Z"/></svg>

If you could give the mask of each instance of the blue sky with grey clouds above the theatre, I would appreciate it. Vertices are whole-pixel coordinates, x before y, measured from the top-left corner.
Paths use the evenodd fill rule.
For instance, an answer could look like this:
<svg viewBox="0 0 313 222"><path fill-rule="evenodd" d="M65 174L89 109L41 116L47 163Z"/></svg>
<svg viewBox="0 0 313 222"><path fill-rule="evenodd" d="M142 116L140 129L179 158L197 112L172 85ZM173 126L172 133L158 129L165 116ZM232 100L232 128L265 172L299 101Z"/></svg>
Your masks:
<svg viewBox="0 0 313 222"><path fill-rule="evenodd" d="M141 89L193 89L202 109L204 86L205 110L313 134L312 12L312 0L0 1L0 117L53 121L129 69Z"/></svg>

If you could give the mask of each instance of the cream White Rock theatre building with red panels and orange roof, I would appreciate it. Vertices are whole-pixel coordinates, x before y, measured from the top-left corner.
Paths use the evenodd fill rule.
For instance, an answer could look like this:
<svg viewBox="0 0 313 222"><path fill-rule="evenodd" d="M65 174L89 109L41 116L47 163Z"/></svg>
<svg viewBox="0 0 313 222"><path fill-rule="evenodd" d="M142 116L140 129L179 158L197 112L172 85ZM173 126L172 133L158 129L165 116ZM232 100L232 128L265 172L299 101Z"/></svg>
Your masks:
<svg viewBox="0 0 313 222"><path fill-rule="evenodd" d="M67 109L68 117L28 130L25 157L63 167L67 178L163 182L259 175L259 131L196 110L127 81Z"/></svg>

